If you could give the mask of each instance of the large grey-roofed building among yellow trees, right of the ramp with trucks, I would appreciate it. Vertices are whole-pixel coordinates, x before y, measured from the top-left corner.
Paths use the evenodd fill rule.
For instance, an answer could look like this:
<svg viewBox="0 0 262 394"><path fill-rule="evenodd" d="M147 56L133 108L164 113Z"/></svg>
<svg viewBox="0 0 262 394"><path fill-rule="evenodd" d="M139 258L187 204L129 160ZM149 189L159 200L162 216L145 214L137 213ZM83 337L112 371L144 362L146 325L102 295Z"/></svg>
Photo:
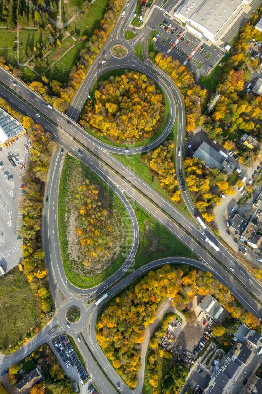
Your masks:
<svg viewBox="0 0 262 394"><path fill-rule="evenodd" d="M227 175L230 175L235 168L234 164L227 161L227 154L223 151L216 151L205 141L201 143L193 156L203 161L210 169L218 168L220 171L227 171Z"/></svg>

